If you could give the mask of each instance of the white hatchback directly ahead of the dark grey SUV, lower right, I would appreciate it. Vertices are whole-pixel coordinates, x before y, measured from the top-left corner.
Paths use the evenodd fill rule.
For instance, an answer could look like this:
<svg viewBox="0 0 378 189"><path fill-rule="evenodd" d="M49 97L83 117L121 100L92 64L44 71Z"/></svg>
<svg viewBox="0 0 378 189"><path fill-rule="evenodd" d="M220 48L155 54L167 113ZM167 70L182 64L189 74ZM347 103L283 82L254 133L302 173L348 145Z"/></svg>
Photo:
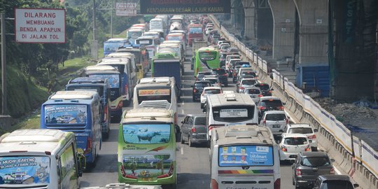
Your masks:
<svg viewBox="0 0 378 189"><path fill-rule="evenodd" d="M279 143L279 160L295 160L298 153L310 152L309 140L304 134L282 134Z"/></svg>

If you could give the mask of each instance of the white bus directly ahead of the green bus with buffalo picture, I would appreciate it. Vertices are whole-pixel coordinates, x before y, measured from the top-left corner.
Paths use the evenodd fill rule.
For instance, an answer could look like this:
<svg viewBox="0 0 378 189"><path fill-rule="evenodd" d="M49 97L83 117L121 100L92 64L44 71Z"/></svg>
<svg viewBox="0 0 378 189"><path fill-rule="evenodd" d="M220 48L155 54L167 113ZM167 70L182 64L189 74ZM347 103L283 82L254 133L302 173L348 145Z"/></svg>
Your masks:
<svg viewBox="0 0 378 189"><path fill-rule="evenodd" d="M177 125L177 95L178 88L173 77L141 78L134 88L134 109L170 110Z"/></svg>

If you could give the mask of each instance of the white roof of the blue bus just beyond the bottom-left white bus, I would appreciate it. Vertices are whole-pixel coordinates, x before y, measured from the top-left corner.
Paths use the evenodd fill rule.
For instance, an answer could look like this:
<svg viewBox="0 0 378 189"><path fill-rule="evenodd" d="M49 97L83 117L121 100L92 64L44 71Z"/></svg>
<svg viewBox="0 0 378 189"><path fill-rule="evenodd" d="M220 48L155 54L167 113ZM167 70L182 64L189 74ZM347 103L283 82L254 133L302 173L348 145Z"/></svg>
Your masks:
<svg viewBox="0 0 378 189"><path fill-rule="evenodd" d="M93 99L95 95L98 95L97 92L90 90L63 90L55 92L49 99Z"/></svg>

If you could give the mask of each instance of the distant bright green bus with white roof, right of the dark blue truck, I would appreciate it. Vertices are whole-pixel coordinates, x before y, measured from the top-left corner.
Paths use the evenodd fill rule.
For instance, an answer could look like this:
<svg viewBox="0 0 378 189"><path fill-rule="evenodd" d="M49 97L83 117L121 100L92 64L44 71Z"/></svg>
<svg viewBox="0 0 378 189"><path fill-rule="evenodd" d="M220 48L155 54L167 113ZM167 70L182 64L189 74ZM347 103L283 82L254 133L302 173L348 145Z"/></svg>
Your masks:
<svg viewBox="0 0 378 189"><path fill-rule="evenodd" d="M205 66L207 69L219 68L221 59L219 59L219 51L213 47L203 47L195 52L194 75L202 71Z"/></svg>

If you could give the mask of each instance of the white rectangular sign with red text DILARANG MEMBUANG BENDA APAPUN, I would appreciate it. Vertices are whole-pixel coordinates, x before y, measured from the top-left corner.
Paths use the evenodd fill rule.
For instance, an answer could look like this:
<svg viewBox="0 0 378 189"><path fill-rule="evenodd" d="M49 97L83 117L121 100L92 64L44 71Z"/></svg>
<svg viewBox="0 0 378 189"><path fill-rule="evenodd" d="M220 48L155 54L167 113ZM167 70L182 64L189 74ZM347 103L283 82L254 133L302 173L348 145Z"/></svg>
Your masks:
<svg viewBox="0 0 378 189"><path fill-rule="evenodd" d="M15 8L15 41L66 43L66 11L48 8Z"/></svg>

